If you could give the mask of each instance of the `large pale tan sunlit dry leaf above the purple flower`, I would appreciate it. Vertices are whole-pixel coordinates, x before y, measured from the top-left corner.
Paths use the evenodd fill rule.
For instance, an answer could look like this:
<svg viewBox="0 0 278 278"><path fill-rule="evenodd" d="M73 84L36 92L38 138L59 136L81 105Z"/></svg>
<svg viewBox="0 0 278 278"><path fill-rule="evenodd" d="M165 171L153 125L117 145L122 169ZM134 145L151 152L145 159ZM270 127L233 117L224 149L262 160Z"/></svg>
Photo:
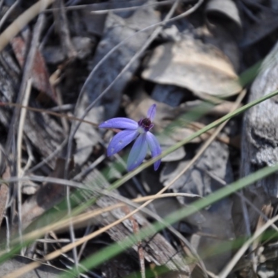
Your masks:
<svg viewBox="0 0 278 278"><path fill-rule="evenodd" d="M161 84L177 85L199 97L227 97L241 90L228 58L212 45L188 38L154 49L142 77Z"/></svg>

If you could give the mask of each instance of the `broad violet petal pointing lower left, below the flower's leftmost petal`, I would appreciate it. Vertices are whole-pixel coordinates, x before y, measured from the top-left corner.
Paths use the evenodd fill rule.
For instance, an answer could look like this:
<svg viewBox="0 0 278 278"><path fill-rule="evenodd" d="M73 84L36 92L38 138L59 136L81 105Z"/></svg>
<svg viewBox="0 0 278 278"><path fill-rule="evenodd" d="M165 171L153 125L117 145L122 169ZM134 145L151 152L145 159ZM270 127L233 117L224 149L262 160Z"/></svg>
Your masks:
<svg viewBox="0 0 278 278"><path fill-rule="evenodd" d="M138 136L137 129L126 129L117 133L111 140L107 148L107 155L113 156L117 154L121 149L124 149L126 145L129 145Z"/></svg>

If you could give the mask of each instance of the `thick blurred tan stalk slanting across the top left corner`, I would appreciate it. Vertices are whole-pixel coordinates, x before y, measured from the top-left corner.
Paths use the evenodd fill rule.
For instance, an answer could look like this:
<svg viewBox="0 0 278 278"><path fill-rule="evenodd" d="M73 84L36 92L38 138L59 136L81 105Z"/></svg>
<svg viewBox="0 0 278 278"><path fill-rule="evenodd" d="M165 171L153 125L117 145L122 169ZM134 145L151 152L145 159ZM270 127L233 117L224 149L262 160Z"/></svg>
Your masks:
<svg viewBox="0 0 278 278"><path fill-rule="evenodd" d="M24 13L19 15L17 19L10 24L3 33L0 34L0 51L6 47L10 40L24 28L28 22L31 22L40 12L45 10L54 0L40 0L33 6L28 8Z"/></svg>

